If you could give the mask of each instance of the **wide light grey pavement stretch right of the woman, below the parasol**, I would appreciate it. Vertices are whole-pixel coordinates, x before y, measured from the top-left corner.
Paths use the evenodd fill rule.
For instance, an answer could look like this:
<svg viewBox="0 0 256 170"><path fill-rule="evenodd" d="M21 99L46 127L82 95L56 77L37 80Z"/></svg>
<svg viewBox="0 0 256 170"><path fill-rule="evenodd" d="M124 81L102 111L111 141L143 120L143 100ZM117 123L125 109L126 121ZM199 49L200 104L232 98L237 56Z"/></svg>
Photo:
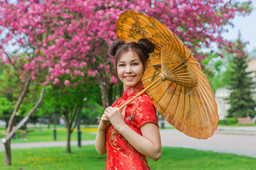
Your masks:
<svg viewBox="0 0 256 170"><path fill-rule="evenodd" d="M161 140L162 145L166 147L184 147L256 158L256 131L250 134L246 131L242 134L241 131L235 133L217 130L207 140L197 140L178 130L161 130Z"/></svg>

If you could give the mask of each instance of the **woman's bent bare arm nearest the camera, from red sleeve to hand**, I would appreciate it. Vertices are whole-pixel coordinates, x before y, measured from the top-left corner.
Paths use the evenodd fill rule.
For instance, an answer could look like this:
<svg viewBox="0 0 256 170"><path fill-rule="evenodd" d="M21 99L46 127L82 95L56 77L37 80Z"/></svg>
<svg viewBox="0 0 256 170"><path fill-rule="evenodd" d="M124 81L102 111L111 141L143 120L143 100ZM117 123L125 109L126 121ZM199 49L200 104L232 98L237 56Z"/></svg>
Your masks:
<svg viewBox="0 0 256 170"><path fill-rule="evenodd" d="M142 135L134 132L129 126L124 123L124 113L126 108L119 111L119 108L107 108L106 115L110 119L111 124L121 133L124 138L140 153L146 157L157 161L161 157L161 138L157 125L154 123L146 123L142 125L140 130Z"/></svg>

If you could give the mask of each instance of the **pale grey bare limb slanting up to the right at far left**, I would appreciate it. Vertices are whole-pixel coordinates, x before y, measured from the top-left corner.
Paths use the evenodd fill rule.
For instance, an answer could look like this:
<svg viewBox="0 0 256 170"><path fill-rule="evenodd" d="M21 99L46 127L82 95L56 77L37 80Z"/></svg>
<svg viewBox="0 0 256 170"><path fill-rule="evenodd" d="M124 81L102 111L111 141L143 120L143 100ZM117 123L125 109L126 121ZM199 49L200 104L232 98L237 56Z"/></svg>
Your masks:
<svg viewBox="0 0 256 170"><path fill-rule="evenodd" d="M38 99L38 102L36 103L35 106L33 106L33 108L31 109L31 111L28 112L28 114L18 123L18 125L16 125L16 127L11 130L11 132L8 133L8 135L6 135L6 137L4 139L2 139L2 142L6 142L7 140L10 140L11 136L14 135L14 133L19 129L21 128L21 126L23 126L26 121L28 121L28 118L31 116L31 114L36 111L36 108L38 108L38 106L40 105L40 103L43 101L43 94L44 94L44 91L46 89L46 86L43 86L43 89L41 90L41 93L40 93L40 97Z"/></svg>

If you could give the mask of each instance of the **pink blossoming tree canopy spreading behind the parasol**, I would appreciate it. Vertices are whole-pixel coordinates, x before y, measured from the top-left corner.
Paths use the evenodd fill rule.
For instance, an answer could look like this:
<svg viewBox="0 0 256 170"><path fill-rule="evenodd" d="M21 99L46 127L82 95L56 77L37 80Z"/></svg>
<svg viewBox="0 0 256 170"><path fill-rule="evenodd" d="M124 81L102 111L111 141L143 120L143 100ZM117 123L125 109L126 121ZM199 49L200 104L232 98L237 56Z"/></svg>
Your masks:
<svg viewBox="0 0 256 170"><path fill-rule="evenodd" d="M230 42L222 37L225 26L232 25L236 13L251 11L250 1L240 4L235 0L1 0L1 62L15 67L21 60L7 50L10 46L26 54L19 76L28 86L42 75L45 86L59 84L65 75L69 77L63 81L65 86L83 83L71 84L75 77L94 77L103 106L107 107L107 91L117 81L107 48L116 38L115 24L125 9L157 18L181 38L198 60L206 57L202 48L213 49L212 42L228 47Z"/></svg>

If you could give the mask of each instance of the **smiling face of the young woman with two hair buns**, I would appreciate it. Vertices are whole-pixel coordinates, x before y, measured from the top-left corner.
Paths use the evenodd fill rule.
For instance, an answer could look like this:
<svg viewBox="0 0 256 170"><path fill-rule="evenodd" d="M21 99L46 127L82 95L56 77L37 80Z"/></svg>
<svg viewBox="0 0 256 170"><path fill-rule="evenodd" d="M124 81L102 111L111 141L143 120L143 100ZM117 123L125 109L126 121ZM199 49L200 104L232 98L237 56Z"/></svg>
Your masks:
<svg viewBox="0 0 256 170"><path fill-rule="evenodd" d="M125 52L117 63L117 75L124 84L124 91L136 85L143 76L143 63L136 52Z"/></svg>

